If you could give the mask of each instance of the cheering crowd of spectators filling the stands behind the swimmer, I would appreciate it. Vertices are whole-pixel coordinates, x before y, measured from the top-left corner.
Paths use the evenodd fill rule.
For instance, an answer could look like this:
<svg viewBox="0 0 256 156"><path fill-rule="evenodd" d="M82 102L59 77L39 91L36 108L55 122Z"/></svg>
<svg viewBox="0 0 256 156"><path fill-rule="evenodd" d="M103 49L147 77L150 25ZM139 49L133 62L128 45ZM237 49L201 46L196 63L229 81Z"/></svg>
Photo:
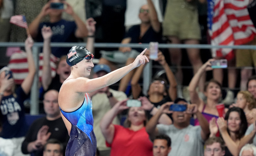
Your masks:
<svg viewBox="0 0 256 156"><path fill-rule="evenodd" d="M16 71L11 71L8 65L0 69L1 156L65 155L69 132L62 119L58 97L63 82L71 73L66 62L70 48L51 47L52 42L85 42L86 48L98 56L97 65L89 77L95 79L120 66L131 64L142 51L141 48L124 46L116 51L99 51L94 48L94 43L108 40L104 34L115 32L110 40L122 44L199 44L200 39L205 38L200 33L196 1L126 0L114 4L114 1L107 0L100 2L97 8L102 11L99 14L107 18L97 20L86 10L90 8L90 1L30 1L26 0L31 9L23 5L25 0L0 0L0 41L24 42L23 49L27 57L27 69L24 69L26 76L20 85L15 84ZM125 2L126 11L120 5ZM203 0L199 2L206 3ZM54 9L52 3L63 4L64 8ZM111 29L111 26L106 22L105 27L102 21L110 18L104 14L110 8L113 9L110 14L123 13L121 20L112 17L110 21L119 20L123 23L120 29L106 33L105 29ZM10 17L16 14L27 17L30 32L27 36L25 29L9 24ZM119 24L112 23L115 26ZM99 32L102 32L104 39L102 36L98 38ZM29 105L25 105L24 101L29 101L34 75L38 72L32 54L34 40L43 42L40 52L43 54L43 65L42 69L38 69L42 76L38 90L42 101L39 109L44 117L33 119L32 124L28 125L25 108L29 109ZM255 45L255 39L247 44ZM1 50L1 54L4 54L5 49ZM142 93L141 77L147 63L124 76L118 88L104 87L89 93L93 103L97 156L256 156L256 76L252 76L255 72L241 68L241 74L237 76L238 69L224 69L228 71L226 83L222 69L211 67L212 61L223 58L202 58L200 49L195 48L187 48L186 52L177 48L158 49L157 59L152 62L165 74L152 77L146 95ZM190 61L192 76L182 72L184 54ZM255 51L238 50L236 54L236 58L228 60L229 67L255 65ZM147 50L145 55L149 58L150 51ZM54 62L56 69L52 68L51 57L58 60ZM175 65L177 70L172 70L170 65ZM152 72L156 73L155 69ZM55 76L52 73L56 73ZM183 97L179 93L179 86L189 76L189 95ZM236 80L241 80L237 92ZM138 103L133 103L133 106L128 106L131 99L141 105L135 106ZM220 103L224 103L223 112L216 107ZM171 110L176 104L186 109Z"/></svg>

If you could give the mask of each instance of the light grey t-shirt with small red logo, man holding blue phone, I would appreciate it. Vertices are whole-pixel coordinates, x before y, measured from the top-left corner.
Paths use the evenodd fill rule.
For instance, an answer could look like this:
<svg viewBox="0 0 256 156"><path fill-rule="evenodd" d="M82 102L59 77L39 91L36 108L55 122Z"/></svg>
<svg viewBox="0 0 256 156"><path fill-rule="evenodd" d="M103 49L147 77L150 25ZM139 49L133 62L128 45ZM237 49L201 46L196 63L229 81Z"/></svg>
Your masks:
<svg viewBox="0 0 256 156"><path fill-rule="evenodd" d="M157 125L159 133L171 138L171 152L168 156L203 156L204 140L201 136L201 127L189 125L178 129L173 125Z"/></svg>

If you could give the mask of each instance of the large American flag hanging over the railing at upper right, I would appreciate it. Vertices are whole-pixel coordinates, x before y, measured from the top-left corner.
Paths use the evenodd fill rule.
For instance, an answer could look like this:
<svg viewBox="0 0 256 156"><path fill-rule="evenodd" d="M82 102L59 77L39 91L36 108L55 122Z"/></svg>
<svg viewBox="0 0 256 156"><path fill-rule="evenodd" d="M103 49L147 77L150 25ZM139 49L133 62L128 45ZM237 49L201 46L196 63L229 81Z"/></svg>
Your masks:
<svg viewBox="0 0 256 156"><path fill-rule="evenodd" d="M247 5L250 0L208 0L208 32L212 45L240 45L254 39L256 29ZM213 49L213 57L232 59L232 49Z"/></svg>

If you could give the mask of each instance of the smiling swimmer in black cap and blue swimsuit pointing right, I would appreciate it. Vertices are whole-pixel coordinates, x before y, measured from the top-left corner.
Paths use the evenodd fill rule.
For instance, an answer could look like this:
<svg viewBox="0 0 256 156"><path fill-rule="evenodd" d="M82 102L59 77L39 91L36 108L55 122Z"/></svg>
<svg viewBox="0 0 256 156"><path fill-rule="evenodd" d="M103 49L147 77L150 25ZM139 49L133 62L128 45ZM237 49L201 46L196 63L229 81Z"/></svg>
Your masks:
<svg viewBox="0 0 256 156"><path fill-rule="evenodd" d="M71 74L62 84L59 94L62 119L70 134L66 155L95 155L97 144L93 132L92 101L88 93L118 82L131 70L144 64L148 61L143 55L145 51L130 65L96 79L87 79L94 67L93 54L83 46L70 49L66 61L71 66Z"/></svg>

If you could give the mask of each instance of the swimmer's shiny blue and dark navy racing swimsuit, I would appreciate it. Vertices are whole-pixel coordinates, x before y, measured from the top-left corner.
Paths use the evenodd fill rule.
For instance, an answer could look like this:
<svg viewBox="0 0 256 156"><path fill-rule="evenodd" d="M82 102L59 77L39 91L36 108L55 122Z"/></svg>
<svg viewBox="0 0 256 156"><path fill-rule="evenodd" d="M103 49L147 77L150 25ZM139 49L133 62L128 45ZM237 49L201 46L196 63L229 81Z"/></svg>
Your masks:
<svg viewBox="0 0 256 156"><path fill-rule="evenodd" d="M83 104L73 112L64 112L64 117L72 124L66 156L94 156L96 137L93 132L92 100L85 94Z"/></svg>

